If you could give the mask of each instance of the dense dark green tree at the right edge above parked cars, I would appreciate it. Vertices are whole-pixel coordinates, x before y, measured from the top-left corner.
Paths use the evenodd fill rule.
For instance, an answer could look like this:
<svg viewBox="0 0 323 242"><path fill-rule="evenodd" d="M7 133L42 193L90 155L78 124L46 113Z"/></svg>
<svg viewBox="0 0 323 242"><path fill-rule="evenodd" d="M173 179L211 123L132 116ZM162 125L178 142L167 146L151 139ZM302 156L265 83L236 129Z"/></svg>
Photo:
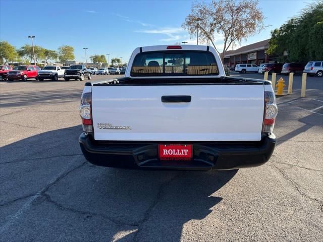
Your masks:
<svg viewBox="0 0 323 242"><path fill-rule="evenodd" d="M323 1L311 4L300 15L271 32L268 54L280 61L308 62L323 59ZM284 51L287 55L283 55Z"/></svg>

